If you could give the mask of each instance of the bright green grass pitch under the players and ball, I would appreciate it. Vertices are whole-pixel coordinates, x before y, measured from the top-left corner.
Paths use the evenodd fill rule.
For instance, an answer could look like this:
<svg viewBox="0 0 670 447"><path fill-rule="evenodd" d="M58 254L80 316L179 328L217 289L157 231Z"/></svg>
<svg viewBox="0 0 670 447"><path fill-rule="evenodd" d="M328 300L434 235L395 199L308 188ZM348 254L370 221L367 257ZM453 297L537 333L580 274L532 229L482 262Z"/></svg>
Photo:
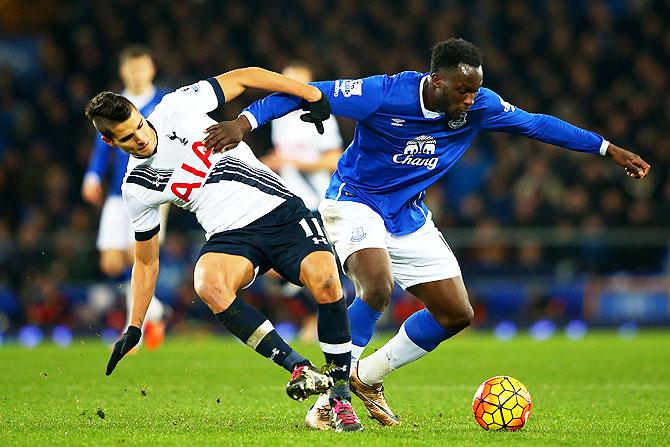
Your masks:
<svg viewBox="0 0 670 447"><path fill-rule="evenodd" d="M380 345L373 341L372 345ZM322 362L318 345L297 345ZM288 373L231 338L168 338L104 375L97 339L69 348L0 347L0 444L10 445L670 445L670 332L622 340L592 332L539 342L469 331L386 381L402 419L361 433L314 432L313 402L290 400ZM472 396L511 375L533 397L519 432L486 432ZM334 444L333 444L334 443Z"/></svg>

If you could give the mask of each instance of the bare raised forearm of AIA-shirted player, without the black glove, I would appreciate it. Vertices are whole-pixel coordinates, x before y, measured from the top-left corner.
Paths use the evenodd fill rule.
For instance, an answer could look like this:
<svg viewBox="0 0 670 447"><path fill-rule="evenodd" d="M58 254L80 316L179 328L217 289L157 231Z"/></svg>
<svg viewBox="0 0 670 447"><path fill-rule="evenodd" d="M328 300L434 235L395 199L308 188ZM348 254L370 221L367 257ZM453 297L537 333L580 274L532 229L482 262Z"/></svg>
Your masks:
<svg viewBox="0 0 670 447"><path fill-rule="evenodd" d="M247 88L286 93L307 102L318 101L321 98L321 91L318 88L259 67L231 70L216 76L215 79L221 85L226 101L237 98Z"/></svg>

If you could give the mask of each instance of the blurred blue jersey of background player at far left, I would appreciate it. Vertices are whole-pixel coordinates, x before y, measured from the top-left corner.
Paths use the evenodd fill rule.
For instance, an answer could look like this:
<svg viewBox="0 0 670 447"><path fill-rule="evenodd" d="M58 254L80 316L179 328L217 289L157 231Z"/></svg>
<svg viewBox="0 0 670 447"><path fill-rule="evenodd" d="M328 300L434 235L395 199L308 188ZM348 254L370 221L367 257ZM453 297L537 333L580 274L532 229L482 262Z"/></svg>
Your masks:
<svg viewBox="0 0 670 447"><path fill-rule="evenodd" d="M153 98L139 109L142 116L149 116L151 112L154 111L154 107L161 102L163 96L168 93L168 90L157 88ZM126 175L129 155L121 149L112 150L111 147L102 141L101 136L100 132L96 131L93 149L91 150L91 155L88 160L86 175L94 174L99 179L103 180L107 173L111 171L107 195L120 196L121 185L123 184L123 177Z"/></svg>

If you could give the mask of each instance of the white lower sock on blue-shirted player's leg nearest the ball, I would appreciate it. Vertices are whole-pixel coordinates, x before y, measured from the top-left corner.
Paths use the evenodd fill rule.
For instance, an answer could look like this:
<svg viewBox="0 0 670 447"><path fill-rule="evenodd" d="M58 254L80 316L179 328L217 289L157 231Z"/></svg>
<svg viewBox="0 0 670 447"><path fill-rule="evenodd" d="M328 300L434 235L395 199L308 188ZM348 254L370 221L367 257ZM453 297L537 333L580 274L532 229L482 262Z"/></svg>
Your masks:
<svg viewBox="0 0 670 447"><path fill-rule="evenodd" d="M354 348L357 348L357 346L354 346ZM420 348L409 339L403 324L395 337L358 362L358 377L368 385L380 383L391 371L420 359L426 354L428 354L428 351ZM353 351L351 355L353 361Z"/></svg>

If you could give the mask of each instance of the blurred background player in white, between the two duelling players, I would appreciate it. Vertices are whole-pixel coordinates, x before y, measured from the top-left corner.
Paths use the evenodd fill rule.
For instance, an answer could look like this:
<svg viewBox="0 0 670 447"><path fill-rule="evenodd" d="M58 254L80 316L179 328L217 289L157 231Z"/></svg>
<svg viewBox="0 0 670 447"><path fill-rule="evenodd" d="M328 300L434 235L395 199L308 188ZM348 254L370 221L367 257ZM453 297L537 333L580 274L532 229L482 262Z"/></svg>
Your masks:
<svg viewBox="0 0 670 447"><path fill-rule="evenodd" d="M301 60L289 62L282 74L304 83L314 80L311 65ZM306 126L300 115L294 111L272 121L273 148L261 161L278 173L288 189L316 213L342 155L342 136L334 116L323 122L324 132L320 134L314 126ZM316 304L309 291L285 281L274 270L268 272L266 281L270 286L279 283L283 296L302 303L307 316L298 337L305 342L316 340Z"/></svg>

